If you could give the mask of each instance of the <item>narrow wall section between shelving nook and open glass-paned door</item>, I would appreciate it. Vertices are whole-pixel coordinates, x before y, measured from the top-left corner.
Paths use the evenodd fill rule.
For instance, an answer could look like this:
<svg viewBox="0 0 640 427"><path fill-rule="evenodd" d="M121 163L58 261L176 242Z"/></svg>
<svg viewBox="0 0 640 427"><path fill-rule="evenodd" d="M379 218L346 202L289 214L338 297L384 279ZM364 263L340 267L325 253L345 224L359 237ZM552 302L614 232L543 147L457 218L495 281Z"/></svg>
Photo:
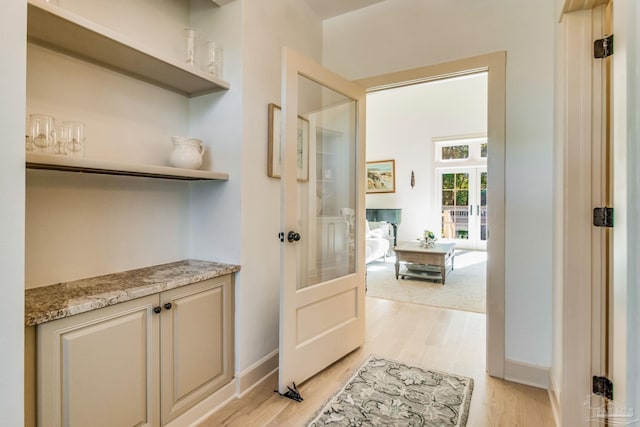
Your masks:
<svg viewBox="0 0 640 427"><path fill-rule="evenodd" d="M306 4L244 0L243 209L239 368L278 348L280 180L267 177L267 105L281 104L282 47L320 59L322 26Z"/></svg>

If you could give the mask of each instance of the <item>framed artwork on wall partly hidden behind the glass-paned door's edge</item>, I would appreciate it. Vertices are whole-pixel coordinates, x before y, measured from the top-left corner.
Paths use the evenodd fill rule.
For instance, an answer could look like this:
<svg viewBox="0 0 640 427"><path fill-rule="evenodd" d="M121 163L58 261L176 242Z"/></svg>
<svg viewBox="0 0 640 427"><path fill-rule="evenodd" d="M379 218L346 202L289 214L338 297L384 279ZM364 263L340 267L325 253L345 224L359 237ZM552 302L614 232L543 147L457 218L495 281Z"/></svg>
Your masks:
<svg viewBox="0 0 640 427"><path fill-rule="evenodd" d="M281 177L282 152L280 120L282 113L276 104L269 104L269 153L267 175ZM309 181L309 120L298 116L298 181Z"/></svg>

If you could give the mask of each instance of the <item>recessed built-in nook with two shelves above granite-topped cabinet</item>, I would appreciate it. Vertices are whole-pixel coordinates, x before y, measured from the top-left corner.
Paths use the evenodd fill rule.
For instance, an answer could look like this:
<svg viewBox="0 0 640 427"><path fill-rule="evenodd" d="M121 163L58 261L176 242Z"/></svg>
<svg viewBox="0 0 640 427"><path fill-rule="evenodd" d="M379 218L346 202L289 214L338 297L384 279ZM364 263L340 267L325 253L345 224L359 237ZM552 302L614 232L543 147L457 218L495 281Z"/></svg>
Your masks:
<svg viewBox="0 0 640 427"><path fill-rule="evenodd" d="M95 390L96 378L104 375L130 381L127 389L135 397L114 400L108 409L114 417L110 425L191 424L235 390L232 276L239 266L225 264L232 268L223 267L219 277L202 275L209 275L210 266L207 272L192 269L194 258L213 264L213 270L223 265L219 261L227 261L216 259L223 257L230 239L230 233L220 233L228 227L221 218L228 200L235 201L238 184L221 183L229 181L229 174L211 170L216 164L231 173L238 170L228 149L233 140L219 126L237 94L227 92L230 84L219 78L222 74L202 70L205 60L191 55L211 42L227 43L231 52L237 49L237 37L227 28L236 26L227 23L235 22L239 6L218 7L229 1L27 0L25 135L51 132L57 143L58 136L69 136L64 133L69 122L83 123L86 129L79 137L86 141L84 156L53 154L26 140L25 149L42 150L25 155L27 306L29 301L35 306L50 302L47 289L60 297L69 283L84 291L86 280L103 283L122 272L143 270L149 275L130 277L130 300L121 299L127 294L126 281L116 280L108 296L98 290L85 300L91 304L106 297L109 307L68 311L66 318L47 322L49 326L25 319L25 354L30 361L25 367L25 425L36 425L37 418L47 425L87 425L91 421L74 418L82 414L58 409L104 409L94 393L63 390L55 401L63 403L49 405L53 409L47 412L54 402L47 378L63 371L73 376L69 382L74 387L80 384L74 375L86 380L84 390ZM189 45L192 39L185 38L185 29L197 30L197 46ZM229 59L227 71L233 79L239 67L233 55ZM32 126L38 116L53 118L46 131ZM175 153L173 136L202 141L202 170L165 166L177 164L169 162ZM171 271L178 287L140 293L149 281L168 283L167 274L174 273L158 270L162 265L175 267ZM177 289L179 300L172 296ZM96 330L111 333L101 326L105 320L123 334L115 344L105 340L105 334L93 335ZM48 340L46 329L56 329L63 321L86 326L73 333L92 350L89 356L84 347L78 357L65 356L64 368L52 371L60 354L56 346L63 340ZM187 332L169 334L178 323ZM196 337L196 330L202 335ZM133 338L131 345L123 345L125 336ZM199 348L187 348L187 342ZM52 352L46 353L46 348ZM196 355L204 363L169 356L178 353ZM122 366L136 374L125 373ZM157 387L160 383L166 391ZM47 393L37 394L34 387ZM90 412L94 419L97 411ZM122 414L132 418L122 421Z"/></svg>

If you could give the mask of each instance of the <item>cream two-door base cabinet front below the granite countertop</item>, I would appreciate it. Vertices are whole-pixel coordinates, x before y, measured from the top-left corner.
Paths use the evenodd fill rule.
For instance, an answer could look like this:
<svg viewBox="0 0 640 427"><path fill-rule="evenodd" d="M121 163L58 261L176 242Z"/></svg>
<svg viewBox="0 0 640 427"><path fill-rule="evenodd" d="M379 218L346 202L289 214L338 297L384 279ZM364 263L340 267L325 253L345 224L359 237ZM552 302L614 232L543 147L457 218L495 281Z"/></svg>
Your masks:
<svg viewBox="0 0 640 427"><path fill-rule="evenodd" d="M231 276L37 327L39 426L160 426L233 377Z"/></svg>

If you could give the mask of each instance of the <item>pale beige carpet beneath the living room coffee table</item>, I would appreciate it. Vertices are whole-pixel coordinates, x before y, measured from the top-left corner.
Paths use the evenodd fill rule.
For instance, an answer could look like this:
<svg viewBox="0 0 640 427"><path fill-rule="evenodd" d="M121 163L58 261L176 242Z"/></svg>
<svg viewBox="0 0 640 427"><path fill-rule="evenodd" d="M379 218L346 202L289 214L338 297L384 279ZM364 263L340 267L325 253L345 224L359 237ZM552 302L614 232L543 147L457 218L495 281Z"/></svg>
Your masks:
<svg viewBox="0 0 640 427"><path fill-rule="evenodd" d="M456 250L455 269L444 286L429 280L396 280L394 263L387 257L387 262L367 264L367 296L486 313L486 252Z"/></svg>

